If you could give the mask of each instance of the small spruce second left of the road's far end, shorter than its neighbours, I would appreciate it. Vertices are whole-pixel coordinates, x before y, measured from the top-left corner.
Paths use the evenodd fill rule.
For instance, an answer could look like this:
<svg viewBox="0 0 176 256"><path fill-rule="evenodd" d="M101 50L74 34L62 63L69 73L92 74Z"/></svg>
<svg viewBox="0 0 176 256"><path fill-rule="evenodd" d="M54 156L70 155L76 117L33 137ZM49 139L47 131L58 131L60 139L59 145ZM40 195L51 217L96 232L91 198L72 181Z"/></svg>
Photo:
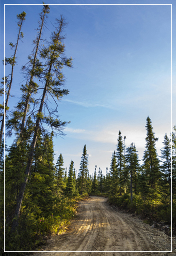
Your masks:
<svg viewBox="0 0 176 256"><path fill-rule="evenodd" d="M73 179L73 166L74 166L74 162L71 161L70 167L69 167L69 173L68 173L67 186L66 186L66 195L68 197L72 197L75 193L75 183Z"/></svg>

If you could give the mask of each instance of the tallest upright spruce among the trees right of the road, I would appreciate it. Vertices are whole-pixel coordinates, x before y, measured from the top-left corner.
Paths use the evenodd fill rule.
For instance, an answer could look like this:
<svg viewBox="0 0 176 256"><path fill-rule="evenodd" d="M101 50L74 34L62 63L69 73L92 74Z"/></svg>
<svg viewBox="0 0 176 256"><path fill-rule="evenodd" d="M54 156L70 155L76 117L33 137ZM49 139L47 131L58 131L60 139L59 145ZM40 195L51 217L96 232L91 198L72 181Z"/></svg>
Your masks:
<svg viewBox="0 0 176 256"><path fill-rule="evenodd" d="M143 170L148 178L148 184L151 188L151 196L156 195L156 188L161 172L159 171L159 160L157 158L155 143L158 138L155 138L151 119L147 118L147 137L146 137L146 150L143 155Z"/></svg>

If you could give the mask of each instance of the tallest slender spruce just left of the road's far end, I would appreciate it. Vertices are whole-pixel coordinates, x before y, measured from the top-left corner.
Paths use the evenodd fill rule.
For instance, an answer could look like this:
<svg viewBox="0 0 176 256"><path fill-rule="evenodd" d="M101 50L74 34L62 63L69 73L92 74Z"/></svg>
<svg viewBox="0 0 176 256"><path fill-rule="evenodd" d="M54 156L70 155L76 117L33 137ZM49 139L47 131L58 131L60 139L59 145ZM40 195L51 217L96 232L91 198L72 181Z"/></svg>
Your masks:
<svg viewBox="0 0 176 256"><path fill-rule="evenodd" d="M83 154L81 157L81 163L80 163L80 168L79 168L79 174L78 174L78 189L79 189L79 193L81 193L81 195L86 192L86 185L87 185L87 174L88 174L88 154L87 154L87 149L86 149L86 145L84 145L83 148Z"/></svg>

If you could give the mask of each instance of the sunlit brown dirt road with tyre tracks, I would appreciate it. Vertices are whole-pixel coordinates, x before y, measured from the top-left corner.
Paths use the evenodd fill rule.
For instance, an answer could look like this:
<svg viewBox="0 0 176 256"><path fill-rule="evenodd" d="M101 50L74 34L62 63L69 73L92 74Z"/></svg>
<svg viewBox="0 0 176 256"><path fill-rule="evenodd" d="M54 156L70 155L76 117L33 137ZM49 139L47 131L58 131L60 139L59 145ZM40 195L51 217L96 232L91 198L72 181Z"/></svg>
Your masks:
<svg viewBox="0 0 176 256"><path fill-rule="evenodd" d="M172 242L172 253L161 252L171 251L170 237L137 217L115 211L106 201L104 197L91 196L89 200L81 202L77 216L71 221L68 230L64 234L52 236L48 245L43 248L45 252L34 255L176 256L175 238Z"/></svg>

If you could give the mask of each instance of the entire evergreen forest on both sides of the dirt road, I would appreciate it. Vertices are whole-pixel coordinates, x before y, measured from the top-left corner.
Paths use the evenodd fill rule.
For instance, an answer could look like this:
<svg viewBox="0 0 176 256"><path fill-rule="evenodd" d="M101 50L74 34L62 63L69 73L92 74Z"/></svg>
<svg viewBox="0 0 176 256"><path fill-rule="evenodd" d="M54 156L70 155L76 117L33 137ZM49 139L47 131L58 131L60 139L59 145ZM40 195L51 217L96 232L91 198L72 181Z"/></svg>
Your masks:
<svg viewBox="0 0 176 256"><path fill-rule="evenodd" d="M54 164L53 137L63 135L63 128L68 124L59 119L57 110L58 101L69 93L63 87L65 77L62 69L72 67L72 58L65 55L63 33L67 22L62 16L56 19L50 38L43 38L43 27L47 25L49 13L49 5L43 4L37 36L33 40L34 49L22 66L25 81L20 87L22 95L11 111L8 104L17 50L24 36L22 26L26 19L25 12L17 15L17 41L9 43L13 54L3 61L4 65L10 66L10 74L3 77L0 90L3 95L5 86L5 102L0 105L2 198L5 191L4 200L1 200L1 253L4 250L33 250L44 243L45 235L64 230L76 213L77 201L86 195L108 196L109 203L137 213L145 211L150 215L155 209L153 218L168 223L171 221L171 201L175 207L176 126L170 137L165 135L159 158L155 148L157 138L151 119L147 118L142 164L139 163L134 143L125 149L120 131L106 175L101 168L97 170L97 166L93 175L89 174L86 145L78 174L72 160L67 173L61 153ZM4 125L6 136L15 136L9 147L4 147ZM175 215L173 218L176 219Z"/></svg>

